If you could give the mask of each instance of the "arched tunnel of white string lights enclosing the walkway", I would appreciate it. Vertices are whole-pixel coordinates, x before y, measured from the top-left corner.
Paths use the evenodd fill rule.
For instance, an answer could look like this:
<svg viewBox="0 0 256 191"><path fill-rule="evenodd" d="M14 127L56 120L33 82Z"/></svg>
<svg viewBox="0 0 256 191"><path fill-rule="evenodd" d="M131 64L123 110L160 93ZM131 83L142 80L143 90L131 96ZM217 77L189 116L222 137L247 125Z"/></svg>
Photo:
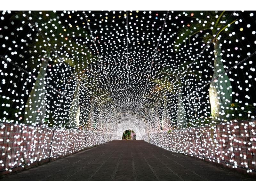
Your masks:
<svg viewBox="0 0 256 191"><path fill-rule="evenodd" d="M1 172L127 129L255 171L255 11L0 15Z"/></svg>

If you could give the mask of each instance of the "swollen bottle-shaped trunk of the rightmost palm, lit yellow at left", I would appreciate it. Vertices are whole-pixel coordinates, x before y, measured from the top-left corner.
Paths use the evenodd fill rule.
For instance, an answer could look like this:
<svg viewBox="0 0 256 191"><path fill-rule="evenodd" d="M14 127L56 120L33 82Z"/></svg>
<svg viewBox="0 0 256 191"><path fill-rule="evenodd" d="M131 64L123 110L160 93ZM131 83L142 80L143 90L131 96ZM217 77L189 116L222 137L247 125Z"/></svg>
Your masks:
<svg viewBox="0 0 256 191"><path fill-rule="evenodd" d="M224 114L224 112L226 111L226 107L229 107L231 105L232 87L230 80L226 74L219 77L219 74L225 72L224 65L221 62L220 41L215 41L214 50L214 73L212 76L212 82L210 83L209 96L212 117L213 119L220 120L223 117L227 118L225 115L221 114Z"/></svg>

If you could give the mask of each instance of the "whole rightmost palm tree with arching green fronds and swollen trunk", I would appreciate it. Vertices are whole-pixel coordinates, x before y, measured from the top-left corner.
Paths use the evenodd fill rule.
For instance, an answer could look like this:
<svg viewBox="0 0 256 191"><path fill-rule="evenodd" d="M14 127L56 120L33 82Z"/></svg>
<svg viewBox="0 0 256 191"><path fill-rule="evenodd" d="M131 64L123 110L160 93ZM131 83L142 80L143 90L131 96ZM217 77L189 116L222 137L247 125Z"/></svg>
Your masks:
<svg viewBox="0 0 256 191"><path fill-rule="evenodd" d="M219 11L187 11L187 17L192 19L189 25L184 26L178 32L178 38L174 43L174 48L179 51L180 46L188 40L190 43L190 37L203 33L203 40L211 42L214 46L214 73L210 83L209 96L211 104L211 114L214 120L219 120L221 115L226 111L226 107L230 106L232 101L232 86L230 80L225 73L223 62L221 61L221 38L228 37L228 27L230 27L236 20L228 17L226 11L222 11L220 15ZM218 79L221 77L220 79Z"/></svg>

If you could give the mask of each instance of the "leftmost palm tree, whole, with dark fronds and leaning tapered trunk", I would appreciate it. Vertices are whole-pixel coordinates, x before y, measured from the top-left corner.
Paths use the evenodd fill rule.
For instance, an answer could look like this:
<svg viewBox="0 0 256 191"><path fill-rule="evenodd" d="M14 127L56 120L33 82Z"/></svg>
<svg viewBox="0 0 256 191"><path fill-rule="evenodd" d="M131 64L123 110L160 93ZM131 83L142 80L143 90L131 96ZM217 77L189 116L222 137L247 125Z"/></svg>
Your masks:
<svg viewBox="0 0 256 191"><path fill-rule="evenodd" d="M76 37L81 38L86 34L82 27L64 26L59 23L58 18L58 14L54 11L19 11L12 17L12 19L22 21L24 25L28 24L34 27L36 33L32 36L33 41L29 45L28 52L36 52L34 55L42 57L36 82L30 91L25 107L24 120L26 123L41 124L44 120L46 111L45 74L47 65L52 63L52 54L55 53L49 44L54 45L55 51L72 55L74 52L78 52L77 49L74 49L74 46L77 46ZM40 33L35 27L39 29ZM87 49L84 49L84 55L87 55ZM41 55L42 53L43 55ZM32 62L35 61L32 59ZM79 87L76 88L75 93L78 94L78 92Z"/></svg>

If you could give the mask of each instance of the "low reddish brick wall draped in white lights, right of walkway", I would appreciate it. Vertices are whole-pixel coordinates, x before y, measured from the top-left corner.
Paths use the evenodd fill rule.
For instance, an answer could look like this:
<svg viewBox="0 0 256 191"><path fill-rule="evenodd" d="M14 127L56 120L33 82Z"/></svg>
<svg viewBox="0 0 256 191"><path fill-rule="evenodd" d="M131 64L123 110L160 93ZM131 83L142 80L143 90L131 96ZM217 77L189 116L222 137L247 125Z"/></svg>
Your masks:
<svg viewBox="0 0 256 191"><path fill-rule="evenodd" d="M149 142L191 157L255 172L255 131L255 120L239 121L212 127L173 130L170 133L154 132Z"/></svg>

